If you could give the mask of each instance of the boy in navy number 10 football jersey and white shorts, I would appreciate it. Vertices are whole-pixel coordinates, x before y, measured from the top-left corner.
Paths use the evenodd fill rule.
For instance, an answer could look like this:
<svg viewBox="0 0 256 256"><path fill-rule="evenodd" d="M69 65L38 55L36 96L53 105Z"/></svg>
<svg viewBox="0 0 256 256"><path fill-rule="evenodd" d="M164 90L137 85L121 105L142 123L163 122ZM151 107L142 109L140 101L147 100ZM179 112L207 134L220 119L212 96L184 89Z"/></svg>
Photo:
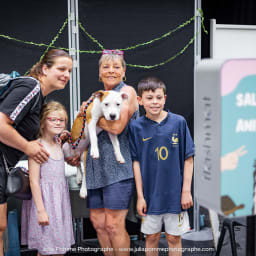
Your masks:
<svg viewBox="0 0 256 256"><path fill-rule="evenodd" d="M129 125L137 211L143 216L147 256L158 255L163 224L169 255L182 255L181 235L190 229L185 210L193 205L194 143L185 119L164 110L165 93L158 78L141 80L138 102L146 115Z"/></svg>

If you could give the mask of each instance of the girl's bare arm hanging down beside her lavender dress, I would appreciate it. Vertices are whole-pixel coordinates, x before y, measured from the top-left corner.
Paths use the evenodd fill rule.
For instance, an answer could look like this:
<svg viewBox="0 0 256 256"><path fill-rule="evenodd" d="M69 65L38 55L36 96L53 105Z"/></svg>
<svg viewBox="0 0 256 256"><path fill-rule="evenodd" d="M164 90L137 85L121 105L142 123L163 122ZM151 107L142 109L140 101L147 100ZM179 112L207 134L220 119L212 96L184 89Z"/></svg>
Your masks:
<svg viewBox="0 0 256 256"><path fill-rule="evenodd" d="M49 225L49 217L44 207L40 188L40 164L29 158L28 169L32 196L37 209L38 223L39 225Z"/></svg>

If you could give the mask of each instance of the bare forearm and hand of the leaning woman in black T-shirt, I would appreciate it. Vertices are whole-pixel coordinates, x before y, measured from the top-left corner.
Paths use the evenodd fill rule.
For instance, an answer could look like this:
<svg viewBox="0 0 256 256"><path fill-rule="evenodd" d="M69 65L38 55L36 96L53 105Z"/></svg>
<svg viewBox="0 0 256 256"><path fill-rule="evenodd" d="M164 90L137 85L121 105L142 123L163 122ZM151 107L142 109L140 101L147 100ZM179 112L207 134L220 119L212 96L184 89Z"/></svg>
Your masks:
<svg viewBox="0 0 256 256"><path fill-rule="evenodd" d="M36 162L43 163L48 159L48 152L38 141L27 141L12 126L13 121L0 112L0 141L10 147L24 152Z"/></svg>

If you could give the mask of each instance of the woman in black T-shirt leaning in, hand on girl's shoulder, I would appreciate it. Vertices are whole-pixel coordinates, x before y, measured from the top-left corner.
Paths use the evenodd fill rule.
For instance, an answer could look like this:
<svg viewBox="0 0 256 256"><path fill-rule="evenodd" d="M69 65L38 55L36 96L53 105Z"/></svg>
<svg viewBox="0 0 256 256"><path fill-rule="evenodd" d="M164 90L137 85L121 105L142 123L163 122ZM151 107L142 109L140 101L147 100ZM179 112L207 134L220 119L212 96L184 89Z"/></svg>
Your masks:
<svg viewBox="0 0 256 256"><path fill-rule="evenodd" d="M28 77L11 81L8 93L0 102L0 256L3 256L3 233L7 226L5 194L8 167L14 167L27 155L39 164L49 153L36 141L40 111L45 97L64 89L70 79L72 58L63 50L52 49L32 67ZM5 159L5 160L4 160Z"/></svg>

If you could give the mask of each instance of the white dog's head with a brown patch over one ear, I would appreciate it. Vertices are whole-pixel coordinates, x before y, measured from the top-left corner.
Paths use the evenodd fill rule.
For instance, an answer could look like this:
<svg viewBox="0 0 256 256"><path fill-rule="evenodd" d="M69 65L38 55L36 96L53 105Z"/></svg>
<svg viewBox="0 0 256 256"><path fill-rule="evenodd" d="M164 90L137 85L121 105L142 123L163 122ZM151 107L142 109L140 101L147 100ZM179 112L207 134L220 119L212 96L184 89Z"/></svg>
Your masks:
<svg viewBox="0 0 256 256"><path fill-rule="evenodd" d="M101 109L106 120L118 120L124 100L128 99L125 92L103 91L100 95Z"/></svg>

